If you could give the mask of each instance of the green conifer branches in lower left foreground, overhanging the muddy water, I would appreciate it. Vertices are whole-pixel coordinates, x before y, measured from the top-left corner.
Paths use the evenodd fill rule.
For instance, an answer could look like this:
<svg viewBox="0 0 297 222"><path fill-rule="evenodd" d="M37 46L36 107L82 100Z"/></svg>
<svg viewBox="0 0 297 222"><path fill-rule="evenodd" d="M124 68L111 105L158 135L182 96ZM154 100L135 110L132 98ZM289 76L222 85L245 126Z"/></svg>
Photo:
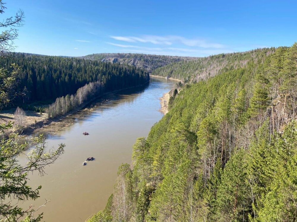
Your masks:
<svg viewBox="0 0 297 222"><path fill-rule="evenodd" d="M20 165L18 156L25 152L29 147L35 145L27 156L27 164ZM37 171L40 175L44 174L45 167L53 163L64 152L64 144L60 144L57 150L47 151L45 138L40 135L34 137L29 143L19 144L18 134L12 133L6 139L0 141L0 214L2 217L9 218L8 221L16 221L20 217L29 215L30 221L40 221L42 214L33 218L35 210L23 210L14 205L10 200L36 200L39 197L41 186L33 189L27 184L28 173ZM26 221L26 220L25 220Z"/></svg>

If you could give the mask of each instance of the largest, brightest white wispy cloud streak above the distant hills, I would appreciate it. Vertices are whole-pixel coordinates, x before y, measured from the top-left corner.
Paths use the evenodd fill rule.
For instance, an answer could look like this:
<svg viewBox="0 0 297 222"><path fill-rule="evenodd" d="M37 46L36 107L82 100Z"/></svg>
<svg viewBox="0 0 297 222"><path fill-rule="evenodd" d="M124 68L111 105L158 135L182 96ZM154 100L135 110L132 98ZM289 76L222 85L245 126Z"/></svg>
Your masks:
<svg viewBox="0 0 297 222"><path fill-rule="evenodd" d="M221 49L225 46L219 43L211 43L207 42L203 39L198 38L185 38L182 36L152 36L152 35L143 35L140 37L135 36L110 36L118 41L126 41L126 42L141 42L141 43L151 43L151 44L159 44L159 45L173 45L175 43L183 44L185 46L196 46L201 48L215 48Z"/></svg>

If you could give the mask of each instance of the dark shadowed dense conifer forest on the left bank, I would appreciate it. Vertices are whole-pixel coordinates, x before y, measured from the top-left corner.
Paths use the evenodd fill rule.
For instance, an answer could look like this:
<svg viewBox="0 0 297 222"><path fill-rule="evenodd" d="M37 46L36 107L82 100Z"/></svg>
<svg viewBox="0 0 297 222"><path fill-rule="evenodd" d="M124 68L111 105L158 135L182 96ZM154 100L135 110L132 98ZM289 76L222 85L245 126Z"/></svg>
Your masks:
<svg viewBox="0 0 297 222"><path fill-rule="evenodd" d="M13 69L12 64L20 67L15 89L22 93L13 101L15 104L52 101L74 94L90 82L99 81L104 91L112 91L144 84L149 80L146 71L130 65L74 57L9 53L0 58L0 66L9 72Z"/></svg>

